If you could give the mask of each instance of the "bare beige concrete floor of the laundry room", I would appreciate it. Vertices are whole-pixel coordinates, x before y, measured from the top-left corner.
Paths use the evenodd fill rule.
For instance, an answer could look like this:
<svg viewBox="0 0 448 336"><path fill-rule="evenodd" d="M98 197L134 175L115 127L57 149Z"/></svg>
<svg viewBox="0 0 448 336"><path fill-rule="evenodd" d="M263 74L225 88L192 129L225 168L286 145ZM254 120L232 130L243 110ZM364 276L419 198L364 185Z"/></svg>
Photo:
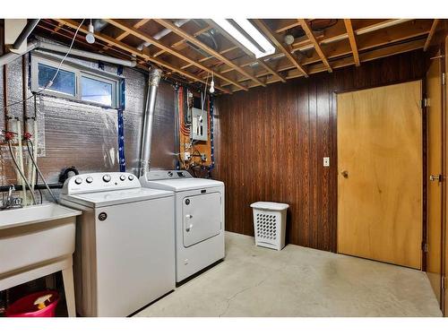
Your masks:
<svg viewBox="0 0 448 336"><path fill-rule="evenodd" d="M226 233L226 259L136 316L441 316L426 274Z"/></svg>

